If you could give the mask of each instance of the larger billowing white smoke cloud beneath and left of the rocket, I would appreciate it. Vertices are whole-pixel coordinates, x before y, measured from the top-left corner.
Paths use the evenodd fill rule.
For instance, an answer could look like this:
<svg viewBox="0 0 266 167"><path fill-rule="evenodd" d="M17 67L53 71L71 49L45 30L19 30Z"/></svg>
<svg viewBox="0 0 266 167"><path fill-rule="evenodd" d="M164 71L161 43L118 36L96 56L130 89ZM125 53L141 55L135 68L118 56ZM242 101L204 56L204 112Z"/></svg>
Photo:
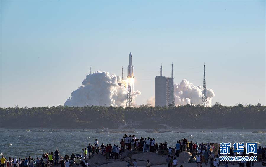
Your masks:
<svg viewBox="0 0 266 167"><path fill-rule="evenodd" d="M83 86L71 93L71 97L65 102L65 106L126 106L127 89L122 84L118 85L121 78L115 74L97 71L88 74L83 80ZM140 91L132 92L132 104L134 99L140 95Z"/></svg>

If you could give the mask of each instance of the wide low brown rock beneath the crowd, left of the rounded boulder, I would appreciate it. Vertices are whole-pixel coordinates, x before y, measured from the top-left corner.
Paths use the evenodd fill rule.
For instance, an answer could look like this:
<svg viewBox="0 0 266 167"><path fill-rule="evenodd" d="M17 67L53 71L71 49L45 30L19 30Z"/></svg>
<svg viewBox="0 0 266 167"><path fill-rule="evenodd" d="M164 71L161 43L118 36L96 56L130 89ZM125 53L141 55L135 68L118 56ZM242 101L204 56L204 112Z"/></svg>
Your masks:
<svg viewBox="0 0 266 167"><path fill-rule="evenodd" d="M136 159L137 160L138 166L141 166L142 163L143 163L143 162L140 162L140 161L147 162L147 160L150 160L152 165L166 164L166 158L167 158L166 155L158 155L157 153L153 153L153 152L143 152L143 153L140 153L140 154L134 154L131 157L131 159ZM146 163L143 163L143 164L146 165Z"/></svg>

